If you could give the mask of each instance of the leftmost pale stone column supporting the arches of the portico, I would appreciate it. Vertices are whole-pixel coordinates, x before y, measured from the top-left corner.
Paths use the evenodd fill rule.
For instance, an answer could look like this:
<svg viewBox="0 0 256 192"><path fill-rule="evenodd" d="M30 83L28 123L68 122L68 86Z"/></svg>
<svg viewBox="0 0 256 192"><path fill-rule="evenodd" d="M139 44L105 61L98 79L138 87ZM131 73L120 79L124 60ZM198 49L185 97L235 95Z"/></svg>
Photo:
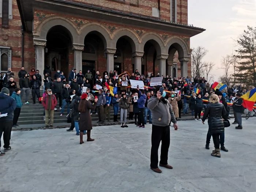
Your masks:
<svg viewBox="0 0 256 192"><path fill-rule="evenodd" d="M46 40L44 39L33 39L35 46L35 70L39 70L39 74L44 79L44 69L45 69L45 46ZM44 81L42 80L42 86L40 89L44 87Z"/></svg>

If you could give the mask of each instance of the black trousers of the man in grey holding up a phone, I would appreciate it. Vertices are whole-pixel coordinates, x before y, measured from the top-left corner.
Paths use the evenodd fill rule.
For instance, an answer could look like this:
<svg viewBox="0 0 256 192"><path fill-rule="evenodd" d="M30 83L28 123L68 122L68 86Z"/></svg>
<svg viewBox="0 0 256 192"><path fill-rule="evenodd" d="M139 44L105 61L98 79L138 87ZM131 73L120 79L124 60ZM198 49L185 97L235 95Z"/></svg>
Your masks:
<svg viewBox="0 0 256 192"><path fill-rule="evenodd" d="M153 169L158 167L158 148L161 141L160 163L162 165L167 165L168 150L170 146L170 125L165 127L152 125L150 167Z"/></svg>

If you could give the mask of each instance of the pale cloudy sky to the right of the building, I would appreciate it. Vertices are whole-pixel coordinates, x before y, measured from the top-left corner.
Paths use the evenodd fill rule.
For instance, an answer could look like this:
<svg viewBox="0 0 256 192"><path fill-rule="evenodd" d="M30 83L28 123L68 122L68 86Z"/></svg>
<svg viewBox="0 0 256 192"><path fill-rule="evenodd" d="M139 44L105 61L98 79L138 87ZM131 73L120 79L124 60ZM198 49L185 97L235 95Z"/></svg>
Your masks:
<svg viewBox="0 0 256 192"><path fill-rule="evenodd" d="M256 0L188 0L188 23L206 29L191 37L190 46L208 50L204 61L212 61L214 80L223 75L221 59L236 50L238 36L247 25L256 27Z"/></svg>

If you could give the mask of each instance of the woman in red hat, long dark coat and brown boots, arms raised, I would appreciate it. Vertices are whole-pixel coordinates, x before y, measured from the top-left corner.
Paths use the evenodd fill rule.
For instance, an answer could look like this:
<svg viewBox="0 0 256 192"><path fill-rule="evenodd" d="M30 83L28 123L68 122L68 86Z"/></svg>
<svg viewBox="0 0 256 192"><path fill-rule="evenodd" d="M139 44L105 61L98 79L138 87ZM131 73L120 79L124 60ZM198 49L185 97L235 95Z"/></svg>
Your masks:
<svg viewBox="0 0 256 192"><path fill-rule="evenodd" d="M97 105L98 99L94 100L94 104L87 101L88 95L86 93L82 94L81 100L78 105L78 111L80 112L79 117L79 131L80 131L80 144L83 142L83 131L87 131L87 141L94 141L91 139L91 129L93 129L93 124L91 122L90 110L94 111Z"/></svg>

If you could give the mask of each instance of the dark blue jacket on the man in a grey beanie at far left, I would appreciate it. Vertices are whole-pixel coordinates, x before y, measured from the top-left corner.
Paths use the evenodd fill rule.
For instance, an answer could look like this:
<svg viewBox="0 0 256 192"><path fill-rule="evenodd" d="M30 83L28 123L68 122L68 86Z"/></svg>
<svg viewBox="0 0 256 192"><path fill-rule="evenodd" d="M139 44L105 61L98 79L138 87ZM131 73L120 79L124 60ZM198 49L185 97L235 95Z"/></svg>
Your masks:
<svg viewBox="0 0 256 192"><path fill-rule="evenodd" d="M16 109L16 101L14 98L6 95L4 93L0 93L0 113L5 114L7 113L6 117L1 117L1 121L12 121L13 119L13 112Z"/></svg>

